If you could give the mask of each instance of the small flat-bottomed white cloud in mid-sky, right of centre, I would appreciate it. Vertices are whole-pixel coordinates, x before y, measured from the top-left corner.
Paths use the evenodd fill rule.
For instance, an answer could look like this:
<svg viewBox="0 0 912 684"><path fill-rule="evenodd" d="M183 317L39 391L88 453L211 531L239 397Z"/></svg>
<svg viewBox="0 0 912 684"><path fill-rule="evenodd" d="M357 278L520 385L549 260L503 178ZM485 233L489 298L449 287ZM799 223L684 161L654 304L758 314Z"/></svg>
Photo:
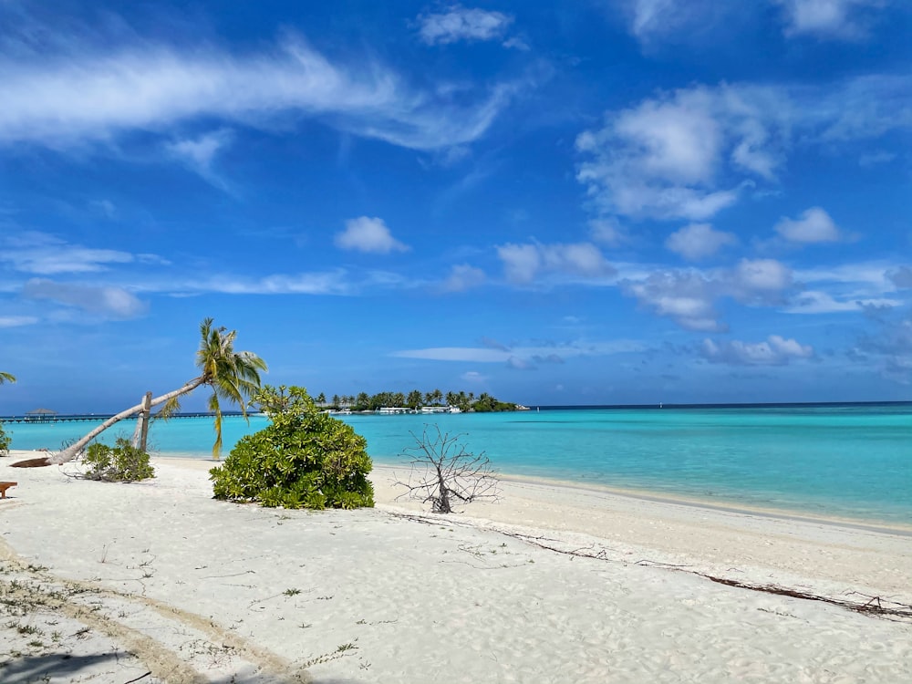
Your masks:
<svg viewBox="0 0 912 684"><path fill-rule="evenodd" d="M540 274L570 275L582 278L607 277L616 273L591 243L502 244L497 255L503 262L507 280L525 285Z"/></svg>

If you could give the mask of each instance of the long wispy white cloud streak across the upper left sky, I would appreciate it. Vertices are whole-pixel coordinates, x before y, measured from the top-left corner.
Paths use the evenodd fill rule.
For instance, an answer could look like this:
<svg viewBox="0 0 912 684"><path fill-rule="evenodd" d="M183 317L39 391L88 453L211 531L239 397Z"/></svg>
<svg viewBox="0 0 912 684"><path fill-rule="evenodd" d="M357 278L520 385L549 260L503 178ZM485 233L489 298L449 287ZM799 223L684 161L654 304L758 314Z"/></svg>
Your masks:
<svg viewBox="0 0 912 684"><path fill-rule="evenodd" d="M476 140L517 88L413 91L376 62L333 63L294 36L246 55L150 44L111 51L73 42L40 58L0 57L0 73L0 144L57 149L201 118L269 127L296 116L434 150Z"/></svg>

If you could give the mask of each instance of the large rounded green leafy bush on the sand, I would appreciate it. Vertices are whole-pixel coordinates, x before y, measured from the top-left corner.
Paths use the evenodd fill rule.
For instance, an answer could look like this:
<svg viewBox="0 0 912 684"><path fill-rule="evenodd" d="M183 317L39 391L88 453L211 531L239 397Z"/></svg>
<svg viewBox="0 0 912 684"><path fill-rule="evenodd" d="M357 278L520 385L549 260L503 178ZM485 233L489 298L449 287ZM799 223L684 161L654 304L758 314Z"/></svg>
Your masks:
<svg viewBox="0 0 912 684"><path fill-rule="evenodd" d="M285 508L374 505L367 442L321 413L304 388L264 387L254 398L272 424L247 435L209 472L216 499Z"/></svg>

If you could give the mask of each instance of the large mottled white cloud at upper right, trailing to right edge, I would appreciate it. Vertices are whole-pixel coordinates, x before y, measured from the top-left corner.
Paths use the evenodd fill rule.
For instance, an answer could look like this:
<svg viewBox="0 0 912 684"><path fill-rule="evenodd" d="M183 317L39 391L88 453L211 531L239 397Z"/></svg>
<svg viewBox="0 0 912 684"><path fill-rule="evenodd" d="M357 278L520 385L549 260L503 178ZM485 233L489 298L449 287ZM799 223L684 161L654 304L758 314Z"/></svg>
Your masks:
<svg viewBox="0 0 912 684"><path fill-rule="evenodd" d="M606 112L603 126L576 138L577 180L600 219L704 222L745 188L777 182L797 140L832 150L903 129L912 129L908 76L698 85Z"/></svg>

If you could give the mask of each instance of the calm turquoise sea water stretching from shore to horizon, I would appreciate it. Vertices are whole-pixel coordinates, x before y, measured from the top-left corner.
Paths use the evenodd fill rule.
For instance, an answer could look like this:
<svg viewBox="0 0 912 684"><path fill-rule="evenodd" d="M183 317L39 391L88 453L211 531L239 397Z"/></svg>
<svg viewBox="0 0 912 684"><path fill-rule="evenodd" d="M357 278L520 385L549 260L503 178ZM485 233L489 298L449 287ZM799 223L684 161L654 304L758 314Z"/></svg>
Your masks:
<svg viewBox="0 0 912 684"><path fill-rule="evenodd" d="M378 462L402 463L410 432L463 434L502 472L714 503L912 523L912 404L345 417ZM225 453L248 426L225 420ZM59 448L92 423L7 424L15 449ZM132 423L109 430L129 435ZM152 450L208 457L212 421L153 423Z"/></svg>

